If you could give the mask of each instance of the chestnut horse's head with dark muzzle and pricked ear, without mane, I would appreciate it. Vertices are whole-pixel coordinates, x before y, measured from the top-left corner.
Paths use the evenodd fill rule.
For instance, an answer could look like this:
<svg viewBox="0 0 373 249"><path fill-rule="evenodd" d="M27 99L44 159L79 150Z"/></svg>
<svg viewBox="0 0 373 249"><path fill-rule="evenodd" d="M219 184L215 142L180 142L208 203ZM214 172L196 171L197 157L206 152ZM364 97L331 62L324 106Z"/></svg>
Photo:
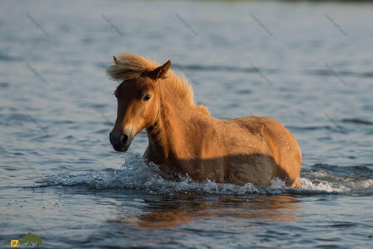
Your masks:
<svg viewBox="0 0 373 249"><path fill-rule="evenodd" d="M116 151L127 151L134 137L156 121L160 110L160 81L171 67L167 61L140 77L123 81L115 91L118 109L110 143Z"/></svg>

